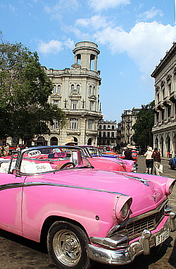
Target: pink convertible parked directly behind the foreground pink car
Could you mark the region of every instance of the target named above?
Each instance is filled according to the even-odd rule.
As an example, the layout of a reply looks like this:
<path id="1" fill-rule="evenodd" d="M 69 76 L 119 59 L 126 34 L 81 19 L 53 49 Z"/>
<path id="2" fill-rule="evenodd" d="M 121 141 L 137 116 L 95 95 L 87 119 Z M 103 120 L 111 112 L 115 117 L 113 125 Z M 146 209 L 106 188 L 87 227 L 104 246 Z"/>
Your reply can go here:
<path id="1" fill-rule="evenodd" d="M 89 159 L 89 162 L 91 162 L 95 168 L 103 170 L 114 169 L 115 171 L 137 172 L 137 162 L 132 160 L 122 160 L 120 157 L 115 155 L 115 157 L 111 157 L 111 155 L 103 155 L 101 154 L 99 148 L 93 145 L 81 145 L 79 147 L 85 150 L 84 155 L 86 157 L 92 157 L 93 160 Z M 123 170 L 122 167 L 125 167 L 125 169 Z"/>

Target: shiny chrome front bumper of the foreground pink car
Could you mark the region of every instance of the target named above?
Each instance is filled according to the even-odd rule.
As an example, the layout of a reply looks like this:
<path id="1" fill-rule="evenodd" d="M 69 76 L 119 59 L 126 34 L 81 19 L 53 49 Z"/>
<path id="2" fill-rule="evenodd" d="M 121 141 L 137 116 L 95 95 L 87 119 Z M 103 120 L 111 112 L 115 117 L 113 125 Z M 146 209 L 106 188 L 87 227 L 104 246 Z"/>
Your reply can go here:
<path id="1" fill-rule="evenodd" d="M 123 265 L 131 263 L 134 258 L 140 254 L 148 255 L 153 246 L 156 246 L 156 237 L 165 230 L 169 229 L 170 232 L 174 232 L 176 229 L 175 224 L 176 214 L 170 212 L 168 220 L 163 225 L 163 228 L 151 234 L 147 229 L 144 229 L 142 236 L 132 242 L 127 248 L 122 250 L 103 249 L 99 246 L 88 245 L 87 253 L 89 258 L 99 263 L 106 263 L 111 265 Z"/>

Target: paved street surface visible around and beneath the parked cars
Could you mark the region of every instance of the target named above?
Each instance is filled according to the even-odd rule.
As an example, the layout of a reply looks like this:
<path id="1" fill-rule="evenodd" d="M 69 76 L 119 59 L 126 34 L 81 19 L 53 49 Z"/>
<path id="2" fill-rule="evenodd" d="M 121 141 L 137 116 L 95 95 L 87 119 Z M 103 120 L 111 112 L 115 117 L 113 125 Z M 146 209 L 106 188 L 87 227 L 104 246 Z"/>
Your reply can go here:
<path id="1" fill-rule="evenodd" d="M 168 160 L 162 160 L 163 176 L 176 179 L 176 170 L 168 166 Z M 139 157 L 138 172 L 145 172 L 145 159 Z M 176 212 L 176 186 L 170 196 L 170 205 Z M 46 269 L 56 268 L 42 246 L 14 234 L 0 230 L 0 269 Z M 103 265 L 95 263 L 92 269 L 159 269 L 176 268 L 176 232 L 159 247 L 152 249 L 149 256 L 138 256 L 129 265 Z"/>

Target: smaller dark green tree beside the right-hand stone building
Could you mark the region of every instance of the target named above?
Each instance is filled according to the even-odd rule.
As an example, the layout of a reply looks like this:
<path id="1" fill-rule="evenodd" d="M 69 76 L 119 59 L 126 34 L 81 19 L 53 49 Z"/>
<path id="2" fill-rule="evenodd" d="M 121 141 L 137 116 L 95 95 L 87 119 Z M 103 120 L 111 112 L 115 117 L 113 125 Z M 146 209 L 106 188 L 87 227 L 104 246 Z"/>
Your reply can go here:
<path id="1" fill-rule="evenodd" d="M 153 145 L 151 129 L 154 124 L 154 104 L 154 101 L 146 105 L 142 104 L 142 109 L 137 114 L 137 121 L 132 126 L 135 131 L 133 141 L 141 148 L 146 148 L 147 145 Z"/>

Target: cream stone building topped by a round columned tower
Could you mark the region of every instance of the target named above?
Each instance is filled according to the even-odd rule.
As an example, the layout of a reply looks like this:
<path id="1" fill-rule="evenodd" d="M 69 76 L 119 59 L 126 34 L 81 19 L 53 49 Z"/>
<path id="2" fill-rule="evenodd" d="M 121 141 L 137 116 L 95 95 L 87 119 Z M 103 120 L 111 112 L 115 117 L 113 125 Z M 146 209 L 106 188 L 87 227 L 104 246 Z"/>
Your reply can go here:
<path id="1" fill-rule="evenodd" d="M 99 49 L 93 42 L 78 42 L 73 49 L 75 64 L 63 70 L 45 69 L 54 84 L 49 102 L 63 109 L 67 126 L 60 129 L 55 121 L 51 134 L 39 136 L 36 145 L 63 144 L 73 136 L 78 145 L 97 145 L 98 122 L 102 119 L 99 107 L 100 71 L 97 71 Z"/>

